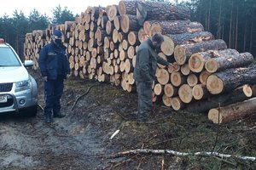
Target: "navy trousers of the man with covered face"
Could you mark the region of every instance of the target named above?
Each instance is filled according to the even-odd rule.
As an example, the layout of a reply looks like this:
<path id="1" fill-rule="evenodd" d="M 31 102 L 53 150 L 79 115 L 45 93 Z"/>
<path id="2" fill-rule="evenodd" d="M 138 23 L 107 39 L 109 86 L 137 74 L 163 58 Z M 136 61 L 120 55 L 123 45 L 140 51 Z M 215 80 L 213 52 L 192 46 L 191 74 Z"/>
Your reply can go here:
<path id="1" fill-rule="evenodd" d="M 51 116 L 52 111 L 54 114 L 58 114 L 60 112 L 63 88 L 64 84 L 62 78 L 44 82 L 45 116 Z"/>

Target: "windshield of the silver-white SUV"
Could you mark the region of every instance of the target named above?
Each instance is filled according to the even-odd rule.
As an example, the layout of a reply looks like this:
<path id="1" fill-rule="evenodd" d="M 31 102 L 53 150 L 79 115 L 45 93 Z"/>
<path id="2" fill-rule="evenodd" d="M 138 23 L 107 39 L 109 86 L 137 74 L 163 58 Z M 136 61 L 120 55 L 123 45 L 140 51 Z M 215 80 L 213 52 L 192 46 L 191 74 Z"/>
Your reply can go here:
<path id="1" fill-rule="evenodd" d="M 20 62 L 11 48 L 0 48 L 0 66 L 20 66 Z"/>

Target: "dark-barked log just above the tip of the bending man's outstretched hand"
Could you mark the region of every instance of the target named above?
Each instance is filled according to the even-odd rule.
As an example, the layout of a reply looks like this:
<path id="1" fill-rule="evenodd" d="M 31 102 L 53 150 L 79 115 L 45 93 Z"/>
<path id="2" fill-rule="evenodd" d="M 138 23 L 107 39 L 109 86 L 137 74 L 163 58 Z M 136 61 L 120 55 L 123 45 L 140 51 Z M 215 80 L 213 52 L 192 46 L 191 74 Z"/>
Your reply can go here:
<path id="1" fill-rule="evenodd" d="M 226 49 L 227 44 L 222 39 L 212 40 L 208 42 L 199 42 L 195 44 L 177 45 L 174 48 L 174 58 L 179 65 L 183 65 L 189 60 L 190 56 L 195 53 L 204 52 L 207 50 Z"/>

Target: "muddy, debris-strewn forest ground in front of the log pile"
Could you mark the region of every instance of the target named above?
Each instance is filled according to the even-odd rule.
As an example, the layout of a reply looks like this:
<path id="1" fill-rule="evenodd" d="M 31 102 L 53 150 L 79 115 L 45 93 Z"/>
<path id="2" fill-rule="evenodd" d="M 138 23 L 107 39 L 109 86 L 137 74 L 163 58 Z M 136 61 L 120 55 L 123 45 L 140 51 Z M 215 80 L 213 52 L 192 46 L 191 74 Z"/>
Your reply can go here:
<path id="1" fill-rule="evenodd" d="M 30 72 L 38 82 L 38 104 L 44 107 L 43 83 L 38 71 Z M 0 117 L 0 169 L 256 169 L 255 161 L 214 156 L 112 157 L 134 149 L 256 156 L 256 114 L 218 126 L 207 114 L 156 104 L 151 115 L 155 122 L 141 125 L 134 120 L 137 94 L 75 77 L 65 85 L 61 111 L 67 116 L 62 119 L 45 124 L 39 106 L 36 117 Z"/>

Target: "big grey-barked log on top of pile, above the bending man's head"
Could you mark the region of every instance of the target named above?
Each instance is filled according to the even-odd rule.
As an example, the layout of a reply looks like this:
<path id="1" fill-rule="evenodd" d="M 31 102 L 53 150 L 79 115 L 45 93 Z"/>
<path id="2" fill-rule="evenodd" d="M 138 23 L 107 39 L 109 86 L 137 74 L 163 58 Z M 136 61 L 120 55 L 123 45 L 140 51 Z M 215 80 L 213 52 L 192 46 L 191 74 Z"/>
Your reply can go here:
<path id="1" fill-rule="evenodd" d="M 140 26 L 145 20 L 189 20 L 189 8 L 173 6 L 167 2 L 137 2 Z"/>

